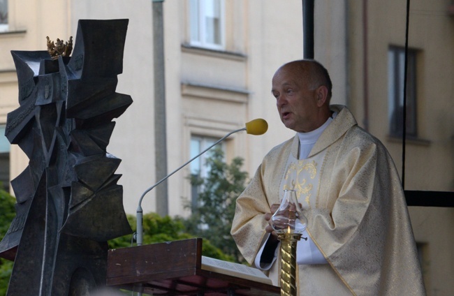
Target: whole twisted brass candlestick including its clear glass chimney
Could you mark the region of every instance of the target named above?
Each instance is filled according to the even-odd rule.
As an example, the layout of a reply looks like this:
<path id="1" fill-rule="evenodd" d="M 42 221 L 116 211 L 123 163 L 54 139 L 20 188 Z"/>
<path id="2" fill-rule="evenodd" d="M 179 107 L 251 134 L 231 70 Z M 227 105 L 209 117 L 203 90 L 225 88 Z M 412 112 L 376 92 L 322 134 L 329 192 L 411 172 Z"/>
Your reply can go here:
<path id="1" fill-rule="evenodd" d="M 281 295 L 297 295 L 296 244 L 307 227 L 294 190 L 285 190 L 279 209 L 271 217 L 281 241 Z"/>

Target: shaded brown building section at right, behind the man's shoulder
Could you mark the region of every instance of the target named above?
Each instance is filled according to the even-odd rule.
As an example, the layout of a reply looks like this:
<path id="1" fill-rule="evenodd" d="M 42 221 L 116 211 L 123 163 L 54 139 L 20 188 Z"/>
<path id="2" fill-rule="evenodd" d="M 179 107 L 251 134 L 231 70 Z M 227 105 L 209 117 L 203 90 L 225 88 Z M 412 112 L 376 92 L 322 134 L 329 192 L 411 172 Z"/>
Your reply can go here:
<path id="1" fill-rule="evenodd" d="M 404 188 L 454 190 L 451 1 L 411 1 L 402 148 L 406 1 L 348 5 L 349 107 L 393 156 Z M 402 165 L 405 158 L 404 166 Z M 404 174 L 403 174 L 404 172 Z M 453 208 L 409 207 L 428 295 L 451 295 Z"/>

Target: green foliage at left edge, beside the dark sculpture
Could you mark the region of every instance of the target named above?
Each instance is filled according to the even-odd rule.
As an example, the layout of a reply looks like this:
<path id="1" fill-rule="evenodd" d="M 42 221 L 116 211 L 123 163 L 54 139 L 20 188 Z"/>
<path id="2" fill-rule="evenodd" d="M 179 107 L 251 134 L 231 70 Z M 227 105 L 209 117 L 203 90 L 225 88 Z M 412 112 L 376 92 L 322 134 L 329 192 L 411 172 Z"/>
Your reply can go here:
<path id="1" fill-rule="evenodd" d="M 0 240 L 6 235 L 13 218 L 15 217 L 15 198 L 8 192 L 0 189 Z M 13 262 L 0 258 L 0 296 L 6 295 L 6 289 L 13 271 Z"/>

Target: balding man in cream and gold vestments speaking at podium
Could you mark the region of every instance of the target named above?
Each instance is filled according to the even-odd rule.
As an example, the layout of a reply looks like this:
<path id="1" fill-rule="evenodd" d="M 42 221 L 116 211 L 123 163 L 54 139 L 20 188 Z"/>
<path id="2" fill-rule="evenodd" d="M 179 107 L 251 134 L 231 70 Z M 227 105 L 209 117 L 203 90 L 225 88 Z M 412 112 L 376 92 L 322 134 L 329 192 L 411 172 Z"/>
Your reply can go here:
<path id="1" fill-rule="evenodd" d="M 231 234 L 244 258 L 279 286 L 270 219 L 292 189 L 308 219 L 297 246 L 300 295 L 425 295 L 393 160 L 345 106 L 330 105 L 328 71 L 291 61 L 272 77 L 271 92 L 296 135 L 263 158 L 237 198 Z"/>

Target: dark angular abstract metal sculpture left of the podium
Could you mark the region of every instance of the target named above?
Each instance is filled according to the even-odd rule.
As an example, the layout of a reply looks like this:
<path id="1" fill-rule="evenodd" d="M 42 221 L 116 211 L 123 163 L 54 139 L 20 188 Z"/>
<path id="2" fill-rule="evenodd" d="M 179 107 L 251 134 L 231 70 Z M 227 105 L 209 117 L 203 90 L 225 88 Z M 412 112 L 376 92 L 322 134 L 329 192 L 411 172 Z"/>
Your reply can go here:
<path id="1" fill-rule="evenodd" d="M 13 51 L 20 107 L 6 137 L 29 165 L 13 181 L 17 215 L 0 242 L 12 295 L 87 295 L 105 285 L 109 239 L 132 232 L 106 151 L 132 103 L 117 94 L 128 20 L 80 20 L 72 57 Z"/>

